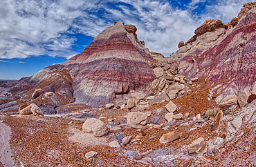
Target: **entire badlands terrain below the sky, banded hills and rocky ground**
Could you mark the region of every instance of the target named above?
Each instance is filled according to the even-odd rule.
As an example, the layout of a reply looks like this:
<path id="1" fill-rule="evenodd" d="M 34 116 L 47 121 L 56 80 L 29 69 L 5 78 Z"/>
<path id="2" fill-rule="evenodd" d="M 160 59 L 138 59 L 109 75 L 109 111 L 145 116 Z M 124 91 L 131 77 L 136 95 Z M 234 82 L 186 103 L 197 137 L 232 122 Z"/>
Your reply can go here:
<path id="1" fill-rule="evenodd" d="M 256 166 L 256 3 L 170 57 L 136 30 L 1 84 L 0 166 Z"/>

